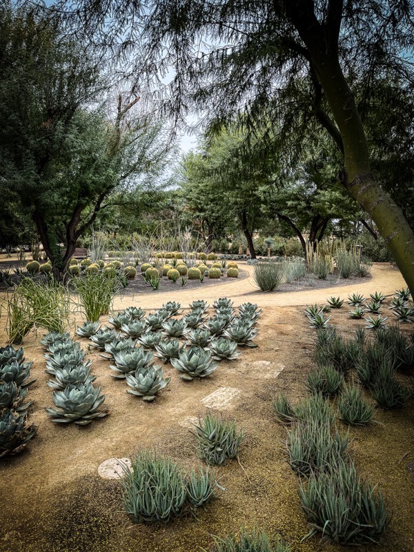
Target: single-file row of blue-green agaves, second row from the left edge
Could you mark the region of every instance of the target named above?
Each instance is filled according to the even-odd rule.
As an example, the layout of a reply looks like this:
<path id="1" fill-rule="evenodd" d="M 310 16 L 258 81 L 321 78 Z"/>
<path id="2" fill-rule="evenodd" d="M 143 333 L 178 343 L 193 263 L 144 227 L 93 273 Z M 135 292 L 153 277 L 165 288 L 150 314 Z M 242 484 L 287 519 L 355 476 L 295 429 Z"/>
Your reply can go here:
<path id="1" fill-rule="evenodd" d="M 57 408 L 46 408 L 52 422 L 69 424 L 74 422 L 86 426 L 108 414 L 99 411 L 105 401 L 101 388 L 93 382 L 96 376 L 90 375 L 90 360 L 85 359 L 85 351 L 70 339 L 68 333 L 50 332 L 41 339 L 46 353 L 46 373 L 53 376 L 48 386 L 54 389 L 53 402 Z"/>

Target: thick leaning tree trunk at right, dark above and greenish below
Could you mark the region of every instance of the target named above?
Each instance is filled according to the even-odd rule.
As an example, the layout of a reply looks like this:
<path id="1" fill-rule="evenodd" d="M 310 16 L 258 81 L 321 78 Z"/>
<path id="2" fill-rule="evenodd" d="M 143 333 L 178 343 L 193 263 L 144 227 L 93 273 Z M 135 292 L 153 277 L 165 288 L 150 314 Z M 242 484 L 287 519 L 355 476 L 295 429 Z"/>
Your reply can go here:
<path id="1" fill-rule="evenodd" d="M 324 25 L 315 17 L 312 0 L 285 3 L 290 20 L 306 44 L 310 63 L 324 90 L 342 138 L 344 170 L 341 180 L 375 222 L 414 297 L 414 233 L 393 199 L 371 175 L 366 135 L 355 99 L 339 64 L 338 37 L 341 0 L 331 0 Z M 331 129 L 335 134 L 335 128 Z M 336 137 L 337 139 L 337 137 Z"/>

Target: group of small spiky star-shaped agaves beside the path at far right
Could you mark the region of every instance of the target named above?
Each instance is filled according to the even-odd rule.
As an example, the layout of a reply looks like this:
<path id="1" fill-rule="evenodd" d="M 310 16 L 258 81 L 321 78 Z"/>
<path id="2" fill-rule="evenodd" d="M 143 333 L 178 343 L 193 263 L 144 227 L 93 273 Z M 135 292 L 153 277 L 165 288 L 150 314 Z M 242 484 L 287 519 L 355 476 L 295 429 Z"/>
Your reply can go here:
<path id="1" fill-rule="evenodd" d="M 397 290 L 395 295 L 391 297 L 389 310 L 393 312 L 398 322 L 414 322 L 414 308 L 409 304 L 411 297 L 408 289 Z M 348 304 L 353 307 L 349 315 L 353 319 L 362 319 L 366 313 L 369 313 L 364 319 L 368 330 L 378 330 L 386 326 L 387 317 L 380 315 L 380 309 L 384 306 L 386 297 L 380 292 L 370 294 L 371 301 L 368 301 L 363 295 L 353 293 L 348 296 Z M 340 297 L 329 297 L 327 304 L 324 306 L 308 305 L 305 309 L 305 314 L 311 322 L 312 328 L 328 328 L 331 317 L 325 313 L 331 308 L 342 308 L 344 299 Z M 377 315 L 373 317 L 373 315 Z"/>

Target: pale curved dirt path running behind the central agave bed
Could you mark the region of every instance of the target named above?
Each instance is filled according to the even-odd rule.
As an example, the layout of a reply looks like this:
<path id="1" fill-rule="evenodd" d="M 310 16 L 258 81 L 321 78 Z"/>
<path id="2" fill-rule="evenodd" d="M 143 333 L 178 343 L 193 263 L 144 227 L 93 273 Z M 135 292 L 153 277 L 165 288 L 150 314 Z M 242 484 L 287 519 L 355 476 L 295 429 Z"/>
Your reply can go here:
<path id="1" fill-rule="evenodd" d="M 340 295 L 347 297 L 350 293 L 363 293 L 367 295 L 375 291 L 381 291 L 384 295 L 391 295 L 395 290 L 406 287 L 404 278 L 399 270 L 392 266 L 373 266 L 371 278 L 366 282 L 355 284 L 341 284 L 331 288 L 309 288 L 301 291 L 263 293 L 257 289 L 253 280 L 253 266 L 242 264 L 243 270 L 247 270 L 247 278 L 229 279 L 228 283 L 219 286 L 192 288 L 190 290 L 182 289 L 177 286 L 176 290 L 168 293 L 139 293 L 137 295 L 126 295 L 115 299 L 114 308 L 116 310 L 125 308 L 129 304 L 139 304 L 143 308 L 159 308 L 169 300 L 180 302 L 186 306 L 195 299 L 204 299 L 208 303 L 213 302 L 218 297 L 232 297 L 236 303 L 252 302 L 261 307 L 266 306 L 299 306 L 311 303 L 325 302 L 326 297 L 331 295 Z M 344 280 L 346 282 L 346 280 Z"/>

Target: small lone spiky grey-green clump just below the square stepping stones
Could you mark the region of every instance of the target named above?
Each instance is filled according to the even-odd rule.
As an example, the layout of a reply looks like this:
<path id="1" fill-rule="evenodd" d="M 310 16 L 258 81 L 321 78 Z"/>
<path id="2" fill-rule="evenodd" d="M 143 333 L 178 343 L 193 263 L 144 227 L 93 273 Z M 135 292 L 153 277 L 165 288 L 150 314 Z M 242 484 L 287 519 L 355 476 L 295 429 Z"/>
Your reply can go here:
<path id="1" fill-rule="evenodd" d="M 230 417 L 208 412 L 195 425 L 199 457 L 207 464 L 221 466 L 237 457 L 244 430 Z"/>

